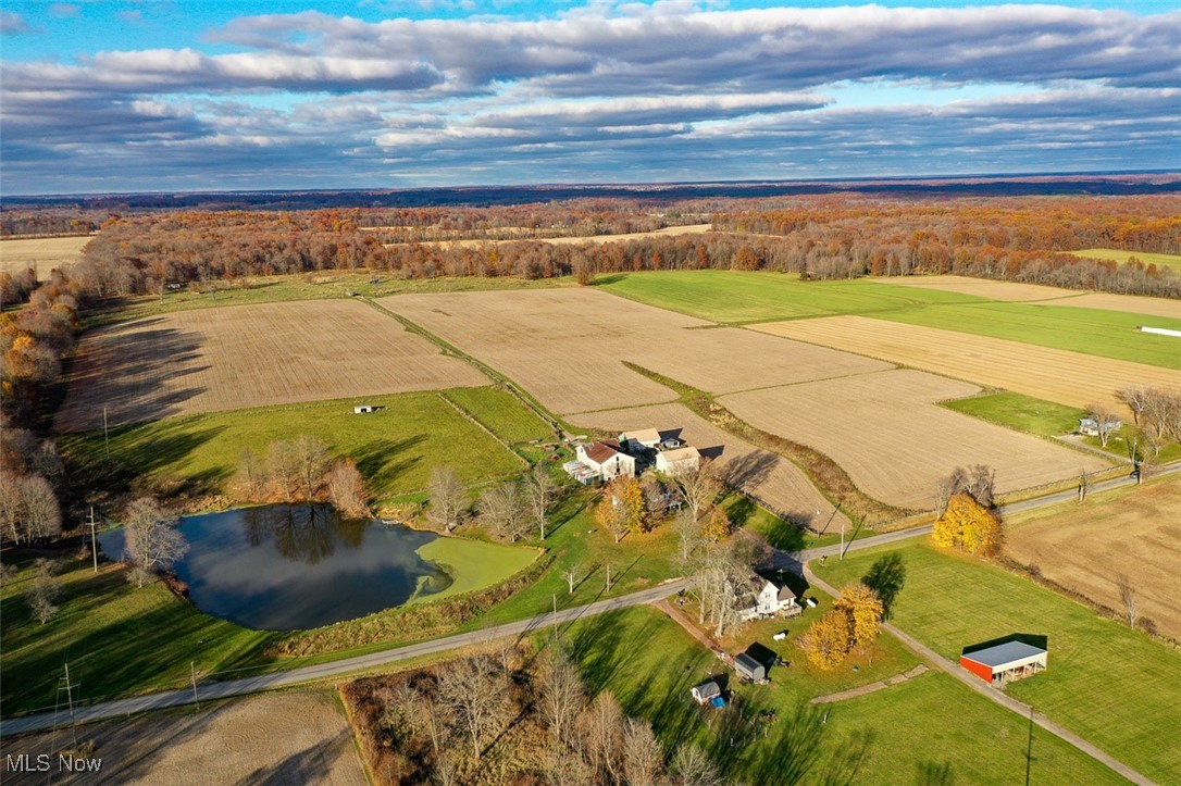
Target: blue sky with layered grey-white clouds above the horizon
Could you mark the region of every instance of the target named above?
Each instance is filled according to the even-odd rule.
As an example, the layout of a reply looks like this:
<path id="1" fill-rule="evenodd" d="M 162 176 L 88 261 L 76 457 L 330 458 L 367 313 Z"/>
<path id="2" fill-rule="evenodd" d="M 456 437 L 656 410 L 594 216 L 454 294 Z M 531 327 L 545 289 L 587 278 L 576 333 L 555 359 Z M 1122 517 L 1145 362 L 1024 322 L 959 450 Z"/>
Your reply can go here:
<path id="1" fill-rule="evenodd" d="M 1181 169 L 1181 6 L 0 6 L 0 194 Z"/>

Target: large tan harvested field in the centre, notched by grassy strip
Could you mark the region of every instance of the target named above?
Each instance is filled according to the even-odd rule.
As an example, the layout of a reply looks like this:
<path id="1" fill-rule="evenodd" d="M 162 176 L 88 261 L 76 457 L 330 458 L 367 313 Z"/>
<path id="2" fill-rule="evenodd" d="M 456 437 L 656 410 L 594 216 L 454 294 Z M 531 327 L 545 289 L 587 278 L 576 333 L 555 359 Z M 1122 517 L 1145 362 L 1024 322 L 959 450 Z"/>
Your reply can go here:
<path id="1" fill-rule="evenodd" d="M 589 289 L 402 295 L 379 302 L 566 414 L 677 398 L 622 361 L 713 393 L 889 367 L 803 342 L 718 328 Z"/>

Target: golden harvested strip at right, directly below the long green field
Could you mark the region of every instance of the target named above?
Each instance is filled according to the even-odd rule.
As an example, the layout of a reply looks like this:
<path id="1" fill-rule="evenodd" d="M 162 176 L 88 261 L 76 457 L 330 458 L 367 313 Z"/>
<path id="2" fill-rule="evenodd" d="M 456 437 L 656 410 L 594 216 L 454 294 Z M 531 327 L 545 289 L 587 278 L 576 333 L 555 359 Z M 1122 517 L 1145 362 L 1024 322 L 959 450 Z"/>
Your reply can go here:
<path id="1" fill-rule="evenodd" d="M 1115 391 L 1130 386 L 1181 387 L 1181 372 L 1170 368 L 864 316 L 771 322 L 751 329 L 1075 407 L 1108 404 L 1128 417 L 1130 413 L 1115 401 Z M 1134 338 L 1129 335 L 1129 340 Z M 1181 340 L 1177 347 L 1181 352 Z"/>

